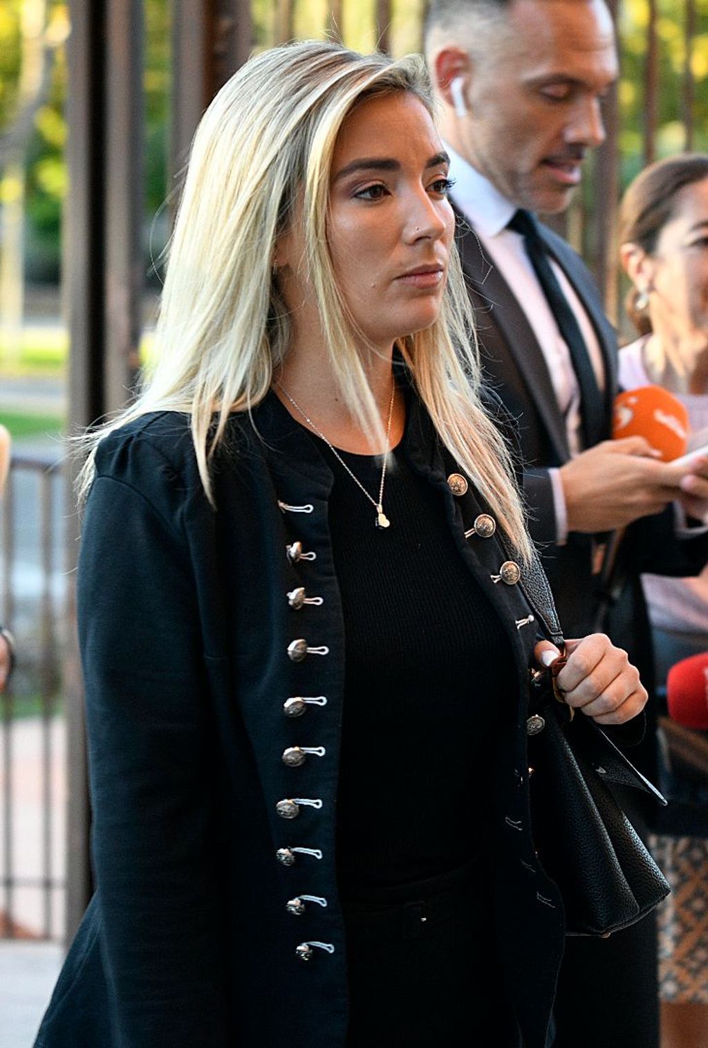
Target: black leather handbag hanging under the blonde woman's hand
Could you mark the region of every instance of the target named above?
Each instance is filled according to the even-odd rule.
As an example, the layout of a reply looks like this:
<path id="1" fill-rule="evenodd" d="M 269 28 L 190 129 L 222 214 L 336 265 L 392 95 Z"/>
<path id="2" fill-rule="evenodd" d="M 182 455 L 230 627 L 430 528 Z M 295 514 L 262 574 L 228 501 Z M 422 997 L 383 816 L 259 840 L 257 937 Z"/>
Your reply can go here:
<path id="1" fill-rule="evenodd" d="M 554 681 L 563 662 L 534 674 L 531 684 L 531 828 L 540 864 L 562 896 L 566 934 L 607 936 L 669 893 L 612 787 L 666 801 L 601 727 L 562 702 Z"/>

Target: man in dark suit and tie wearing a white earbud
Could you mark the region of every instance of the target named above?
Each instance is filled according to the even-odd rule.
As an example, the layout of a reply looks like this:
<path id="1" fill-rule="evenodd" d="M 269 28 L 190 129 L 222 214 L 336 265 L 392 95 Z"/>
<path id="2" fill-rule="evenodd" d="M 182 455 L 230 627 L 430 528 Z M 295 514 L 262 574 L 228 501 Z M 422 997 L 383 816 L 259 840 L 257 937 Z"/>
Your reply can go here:
<path id="1" fill-rule="evenodd" d="M 703 512 L 708 460 L 682 474 L 641 438 L 607 439 L 615 333 L 580 259 L 534 215 L 568 205 L 604 139 L 602 97 L 618 71 L 611 14 L 603 0 L 432 0 L 425 49 L 483 364 L 519 421 L 531 531 L 561 623 L 568 636 L 595 628 L 603 538 L 629 527 L 606 628 L 650 676 L 639 574 L 694 573 L 705 561 L 705 539 L 681 540 L 669 503 Z M 569 940 L 558 1048 L 656 1048 L 656 962 L 652 918 L 610 940 Z"/>

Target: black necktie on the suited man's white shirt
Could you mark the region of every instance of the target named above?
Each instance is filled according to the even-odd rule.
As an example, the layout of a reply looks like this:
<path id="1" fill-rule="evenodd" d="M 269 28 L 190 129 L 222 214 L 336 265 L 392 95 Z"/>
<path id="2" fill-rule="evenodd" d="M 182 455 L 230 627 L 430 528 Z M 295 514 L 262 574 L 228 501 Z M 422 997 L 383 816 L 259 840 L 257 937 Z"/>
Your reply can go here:
<path id="1" fill-rule="evenodd" d="M 583 443 L 585 447 L 592 447 L 593 444 L 602 440 L 604 435 L 604 398 L 598 389 L 590 353 L 575 313 L 549 262 L 546 245 L 538 232 L 538 223 L 534 216 L 528 211 L 519 210 L 511 217 L 507 228 L 514 230 L 524 237 L 526 254 L 529 256 L 538 283 L 551 307 L 561 337 L 570 351 L 573 370 L 580 388 Z"/>

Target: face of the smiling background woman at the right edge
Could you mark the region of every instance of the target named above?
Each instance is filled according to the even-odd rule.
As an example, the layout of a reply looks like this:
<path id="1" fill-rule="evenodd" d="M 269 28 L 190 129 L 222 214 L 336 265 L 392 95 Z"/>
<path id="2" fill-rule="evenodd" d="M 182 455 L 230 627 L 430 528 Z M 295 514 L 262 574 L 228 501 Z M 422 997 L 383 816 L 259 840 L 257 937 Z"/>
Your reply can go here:
<path id="1" fill-rule="evenodd" d="M 655 330 L 708 332 L 708 178 L 677 195 L 650 261 Z"/>

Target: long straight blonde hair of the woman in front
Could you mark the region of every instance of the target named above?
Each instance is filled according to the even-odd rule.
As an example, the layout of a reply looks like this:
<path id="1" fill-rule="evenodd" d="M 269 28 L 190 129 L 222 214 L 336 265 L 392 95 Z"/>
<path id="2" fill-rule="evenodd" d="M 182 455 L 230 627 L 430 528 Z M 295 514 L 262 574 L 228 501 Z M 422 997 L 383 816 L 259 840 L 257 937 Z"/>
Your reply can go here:
<path id="1" fill-rule="evenodd" d="M 393 62 L 306 41 L 250 59 L 222 87 L 197 129 L 169 252 L 156 328 L 157 361 L 138 399 L 88 438 L 85 494 L 96 443 L 153 411 L 191 416 L 209 500 L 209 460 L 231 412 L 270 389 L 290 345 L 273 246 L 303 201 L 309 279 L 335 380 L 368 432 L 380 417 L 327 239 L 330 167 L 348 113 L 364 97 L 413 92 L 432 110 L 423 60 Z M 523 556 L 530 555 L 509 453 L 483 409 L 471 307 L 452 252 L 438 320 L 399 348 L 440 439 L 477 484 Z M 215 413 L 218 415 L 214 427 Z"/>

